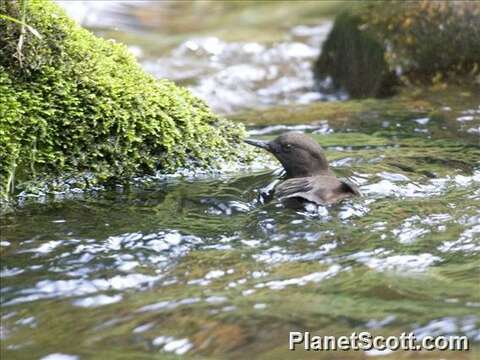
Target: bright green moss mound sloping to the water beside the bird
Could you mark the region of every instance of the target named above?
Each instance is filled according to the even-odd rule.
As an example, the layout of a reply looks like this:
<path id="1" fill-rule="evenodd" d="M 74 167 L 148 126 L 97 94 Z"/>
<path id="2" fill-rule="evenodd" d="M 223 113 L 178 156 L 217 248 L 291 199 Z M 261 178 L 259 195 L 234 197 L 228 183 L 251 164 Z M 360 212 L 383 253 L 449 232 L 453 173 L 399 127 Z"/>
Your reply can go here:
<path id="1" fill-rule="evenodd" d="M 20 3 L 0 13 L 22 18 Z M 51 1 L 29 1 L 26 23 L 0 19 L 2 197 L 29 182 L 89 174 L 124 181 L 157 170 L 236 159 L 241 125 L 188 90 L 156 80 L 121 44 L 78 27 Z"/>

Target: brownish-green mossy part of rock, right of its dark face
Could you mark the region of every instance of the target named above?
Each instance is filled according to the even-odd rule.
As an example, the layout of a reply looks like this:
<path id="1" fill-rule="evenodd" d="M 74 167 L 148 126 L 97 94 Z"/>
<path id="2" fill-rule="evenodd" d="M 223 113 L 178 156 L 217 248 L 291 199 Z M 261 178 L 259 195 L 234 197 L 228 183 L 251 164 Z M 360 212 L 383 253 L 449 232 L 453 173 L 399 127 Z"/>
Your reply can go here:
<path id="1" fill-rule="evenodd" d="M 386 61 L 401 69 L 404 80 L 439 82 L 480 70 L 476 1 L 373 2 L 360 16 L 364 30 L 386 45 Z"/>

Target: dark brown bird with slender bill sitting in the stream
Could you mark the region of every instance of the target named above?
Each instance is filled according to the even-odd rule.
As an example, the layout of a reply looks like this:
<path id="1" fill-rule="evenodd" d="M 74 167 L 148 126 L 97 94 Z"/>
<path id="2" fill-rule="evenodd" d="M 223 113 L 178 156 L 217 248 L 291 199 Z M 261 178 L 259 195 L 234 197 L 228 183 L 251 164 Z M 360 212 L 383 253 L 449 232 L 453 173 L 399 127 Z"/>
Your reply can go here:
<path id="1" fill-rule="evenodd" d="M 279 200 L 300 199 L 318 205 L 360 195 L 355 185 L 337 179 L 321 146 L 303 133 L 287 133 L 272 141 L 245 140 L 272 153 L 283 165 L 287 179 L 275 188 Z"/>

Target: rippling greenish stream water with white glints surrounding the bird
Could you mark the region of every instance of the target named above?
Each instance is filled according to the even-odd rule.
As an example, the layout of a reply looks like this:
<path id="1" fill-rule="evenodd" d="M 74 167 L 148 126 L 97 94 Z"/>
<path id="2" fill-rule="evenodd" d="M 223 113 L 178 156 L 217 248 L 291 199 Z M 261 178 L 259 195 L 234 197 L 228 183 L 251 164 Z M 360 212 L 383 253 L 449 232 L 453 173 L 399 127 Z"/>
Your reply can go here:
<path id="1" fill-rule="evenodd" d="M 322 26 L 301 29 L 318 36 Z M 342 118 L 266 121 L 263 108 L 282 98 L 325 96 L 299 70 L 307 60 L 294 54 L 313 40 L 292 39 L 298 29 L 268 45 L 189 39 L 141 59 L 225 113 L 257 109 L 244 115 L 252 137 L 310 133 L 363 196 L 285 208 L 268 199 L 278 164 L 259 156 L 248 171 L 27 199 L 2 219 L 2 359 L 478 356 L 480 94 L 436 95 L 428 111 L 393 100 Z M 282 49 L 290 55 L 270 65 Z M 198 72 L 179 79 L 178 61 Z M 265 79 L 244 69 L 251 81 L 237 81 L 239 66 L 278 73 Z M 221 68 L 229 71 L 219 75 Z M 281 74 L 300 85 L 282 92 Z M 215 87 L 228 94 L 223 104 L 202 90 Z M 295 106 L 292 117 L 311 118 L 312 109 Z M 289 331 L 466 335 L 472 349 L 292 353 Z"/>

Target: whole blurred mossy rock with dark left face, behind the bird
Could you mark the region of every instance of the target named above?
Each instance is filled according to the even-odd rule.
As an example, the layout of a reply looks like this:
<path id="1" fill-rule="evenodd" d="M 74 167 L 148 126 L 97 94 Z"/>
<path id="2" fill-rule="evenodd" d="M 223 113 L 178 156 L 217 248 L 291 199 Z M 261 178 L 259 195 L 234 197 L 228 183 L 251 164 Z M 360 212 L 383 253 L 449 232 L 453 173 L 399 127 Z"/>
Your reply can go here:
<path id="1" fill-rule="evenodd" d="M 477 1 L 369 1 L 340 14 L 314 66 L 321 90 L 353 98 L 399 84 L 471 83 L 480 73 Z M 331 81 L 326 82 L 325 79 Z"/>

